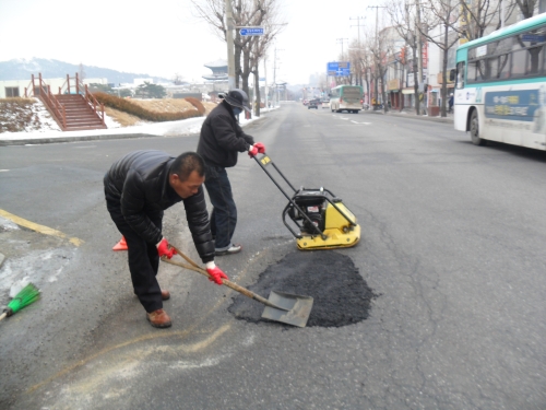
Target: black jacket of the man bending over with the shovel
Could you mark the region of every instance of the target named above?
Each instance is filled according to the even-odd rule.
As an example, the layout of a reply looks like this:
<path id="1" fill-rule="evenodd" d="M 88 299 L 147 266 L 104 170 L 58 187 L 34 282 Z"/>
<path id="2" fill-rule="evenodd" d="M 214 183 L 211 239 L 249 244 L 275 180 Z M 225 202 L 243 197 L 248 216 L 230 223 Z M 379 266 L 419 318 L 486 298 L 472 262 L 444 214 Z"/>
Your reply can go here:
<path id="1" fill-rule="evenodd" d="M 127 223 L 149 244 L 163 235 L 149 214 L 161 212 L 183 201 L 186 219 L 193 243 L 203 262 L 214 260 L 209 213 L 203 187 L 182 199 L 170 187 L 168 177 L 174 157 L 162 151 L 136 151 L 112 164 L 104 177 L 106 199 L 119 203 Z"/>

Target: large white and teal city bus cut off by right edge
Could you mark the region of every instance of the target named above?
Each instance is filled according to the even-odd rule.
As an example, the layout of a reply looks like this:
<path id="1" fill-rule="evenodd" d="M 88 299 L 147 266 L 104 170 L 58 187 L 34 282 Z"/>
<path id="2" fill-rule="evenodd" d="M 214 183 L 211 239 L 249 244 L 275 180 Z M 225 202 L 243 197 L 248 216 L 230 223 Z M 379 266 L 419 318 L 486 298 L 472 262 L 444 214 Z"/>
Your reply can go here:
<path id="1" fill-rule="evenodd" d="M 546 14 L 456 50 L 454 127 L 472 142 L 546 150 Z"/>

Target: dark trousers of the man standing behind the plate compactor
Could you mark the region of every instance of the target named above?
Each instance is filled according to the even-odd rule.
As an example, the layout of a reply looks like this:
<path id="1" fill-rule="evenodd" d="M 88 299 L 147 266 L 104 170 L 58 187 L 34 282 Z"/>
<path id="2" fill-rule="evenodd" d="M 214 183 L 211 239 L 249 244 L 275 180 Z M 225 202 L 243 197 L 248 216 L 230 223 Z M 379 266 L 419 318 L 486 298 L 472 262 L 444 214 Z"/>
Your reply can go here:
<path id="1" fill-rule="evenodd" d="M 226 168 L 206 164 L 204 185 L 213 206 L 211 232 L 216 236 L 215 248 L 218 251 L 226 250 L 232 246 L 237 225 L 237 208 Z"/>

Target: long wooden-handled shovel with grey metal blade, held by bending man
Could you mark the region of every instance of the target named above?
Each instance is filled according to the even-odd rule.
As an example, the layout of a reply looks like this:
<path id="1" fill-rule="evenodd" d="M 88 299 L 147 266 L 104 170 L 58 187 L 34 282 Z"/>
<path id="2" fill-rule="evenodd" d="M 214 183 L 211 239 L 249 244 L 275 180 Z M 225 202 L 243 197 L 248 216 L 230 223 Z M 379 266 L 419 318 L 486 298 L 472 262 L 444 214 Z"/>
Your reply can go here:
<path id="1" fill-rule="evenodd" d="M 190 265 L 177 262 L 175 260 L 162 257 L 162 260 L 164 262 L 193 270 L 194 272 L 201 273 L 206 278 L 211 277 L 206 270 L 201 268 L 189 257 L 183 255 L 176 247 L 171 247 Z M 283 324 L 288 324 L 297 327 L 305 327 L 307 320 L 309 319 L 309 315 L 311 314 L 312 297 L 310 296 L 300 296 L 290 293 L 271 291 L 270 298 L 266 300 L 265 297 L 262 297 L 246 288 L 239 286 L 237 283 L 228 281 L 227 279 L 222 279 L 222 283 L 228 288 L 232 288 L 234 291 L 244 294 L 247 297 L 253 298 L 254 301 L 264 304 L 265 308 L 262 313 L 262 317 L 265 319 L 282 321 Z"/>

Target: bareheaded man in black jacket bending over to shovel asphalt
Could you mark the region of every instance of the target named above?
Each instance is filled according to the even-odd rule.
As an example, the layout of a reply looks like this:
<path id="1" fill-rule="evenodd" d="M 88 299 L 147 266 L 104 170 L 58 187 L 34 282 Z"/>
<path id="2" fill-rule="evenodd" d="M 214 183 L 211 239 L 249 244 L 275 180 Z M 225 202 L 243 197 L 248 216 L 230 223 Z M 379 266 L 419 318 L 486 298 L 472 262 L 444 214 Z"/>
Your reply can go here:
<path id="1" fill-rule="evenodd" d="M 161 151 L 136 151 L 115 162 L 104 177 L 106 206 L 128 245 L 134 293 L 154 327 L 169 327 L 159 288 L 159 257 L 175 250 L 162 235 L 163 211 L 183 201 L 186 219 L 199 256 L 212 280 L 222 284 L 226 274 L 214 263 L 214 243 L 202 184 L 204 163 L 194 152 L 173 157 Z"/>

